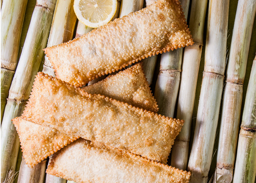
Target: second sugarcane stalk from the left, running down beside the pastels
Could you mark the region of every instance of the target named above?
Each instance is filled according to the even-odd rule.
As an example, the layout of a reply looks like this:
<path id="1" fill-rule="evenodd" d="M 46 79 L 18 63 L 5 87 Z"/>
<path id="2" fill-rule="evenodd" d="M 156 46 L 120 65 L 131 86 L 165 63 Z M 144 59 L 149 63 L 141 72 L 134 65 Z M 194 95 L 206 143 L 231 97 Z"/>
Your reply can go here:
<path id="1" fill-rule="evenodd" d="M 34 76 L 43 58 L 55 3 L 56 0 L 37 1 L 9 90 L 1 126 L 1 182 L 5 180 L 7 171 L 16 167 L 19 137 L 11 120 L 21 115 L 30 95 Z"/>

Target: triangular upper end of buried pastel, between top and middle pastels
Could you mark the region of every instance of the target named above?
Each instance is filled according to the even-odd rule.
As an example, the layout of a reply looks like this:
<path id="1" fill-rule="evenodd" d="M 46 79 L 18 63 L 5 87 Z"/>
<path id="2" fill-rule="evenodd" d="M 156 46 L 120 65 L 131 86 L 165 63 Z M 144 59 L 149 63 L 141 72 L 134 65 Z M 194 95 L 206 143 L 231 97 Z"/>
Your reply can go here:
<path id="1" fill-rule="evenodd" d="M 91 94 L 105 95 L 148 111 L 158 111 L 156 100 L 152 96 L 143 72 L 142 63 L 110 75 L 102 81 L 86 86 L 83 90 Z"/>

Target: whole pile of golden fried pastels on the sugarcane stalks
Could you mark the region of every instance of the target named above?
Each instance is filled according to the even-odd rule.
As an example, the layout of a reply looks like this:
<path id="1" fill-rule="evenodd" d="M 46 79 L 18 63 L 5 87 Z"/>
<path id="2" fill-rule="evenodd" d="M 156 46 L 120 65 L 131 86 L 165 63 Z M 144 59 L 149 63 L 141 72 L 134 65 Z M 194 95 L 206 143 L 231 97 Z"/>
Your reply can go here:
<path id="1" fill-rule="evenodd" d="M 125 23 L 135 33 L 123 30 Z M 154 23 L 156 30 L 147 28 Z M 133 34 L 133 39 L 116 42 L 113 36 L 119 34 Z M 140 45 L 140 39 L 148 43 Z M 113 49 L 116 43 L 118 49 Z M 188 182 L 190 172 L 166 165 L 184 121 L 156 114 L 141 63 L 91 86 L 77 87 L 147 56 L 192 43 L 179 2 L 159 0 L 78 39 L 47 48 L 57 78 L 39 72 L 24 113 L 13 119 L 26 164 L 33 167 L 51 155 L 47 173 L 79 183 Z"/>

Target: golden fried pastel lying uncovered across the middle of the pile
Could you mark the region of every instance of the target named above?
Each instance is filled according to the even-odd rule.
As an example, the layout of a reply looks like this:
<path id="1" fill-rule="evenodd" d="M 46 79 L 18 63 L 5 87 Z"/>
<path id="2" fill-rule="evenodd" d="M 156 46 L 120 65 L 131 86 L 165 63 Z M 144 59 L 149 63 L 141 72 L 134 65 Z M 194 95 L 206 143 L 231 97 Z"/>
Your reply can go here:
<path id="1" fill-rule="evenodd" d="M 39 72 L 21 118 L 166 163 L 184 121 L 88 94 Z"/>

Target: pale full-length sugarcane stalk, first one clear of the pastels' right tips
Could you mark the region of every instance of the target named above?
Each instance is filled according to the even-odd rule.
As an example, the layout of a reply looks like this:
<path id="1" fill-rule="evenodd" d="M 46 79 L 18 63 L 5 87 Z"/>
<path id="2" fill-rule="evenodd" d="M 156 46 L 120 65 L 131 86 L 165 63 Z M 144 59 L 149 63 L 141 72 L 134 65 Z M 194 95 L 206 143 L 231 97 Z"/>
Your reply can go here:
<path id="1" fill-rule="evenodd" d="M 192 150 L 191 183 L 206 183 L 211 167 L 226 65 L 229 0 L 210 0 L 204 74 Z"/>

